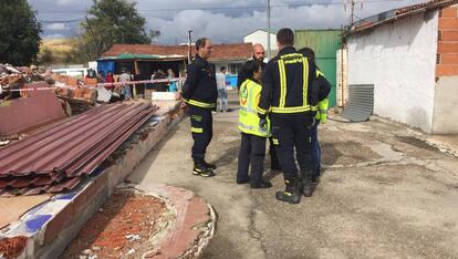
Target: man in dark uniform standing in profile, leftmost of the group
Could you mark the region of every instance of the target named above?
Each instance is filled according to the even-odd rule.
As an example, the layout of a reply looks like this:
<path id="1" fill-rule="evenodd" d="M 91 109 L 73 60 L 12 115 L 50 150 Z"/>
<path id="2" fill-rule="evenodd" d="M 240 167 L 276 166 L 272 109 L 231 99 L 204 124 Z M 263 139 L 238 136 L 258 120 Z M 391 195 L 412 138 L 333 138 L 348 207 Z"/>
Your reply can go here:
<path id="1" fill-rule="evenodd" d="M 192 174 L 211 177 L 215 176 L 216 166 L 205 160 L 205 154 L 214 135 L 211 111 L 216 110 L 218 92 L 215 65 L 208 62 L 212 51 L 210 39 L 197 40 L 196 50 L 196 58 L 188 66 L 181 96 L 189 106 L 191 121 Z"/>

